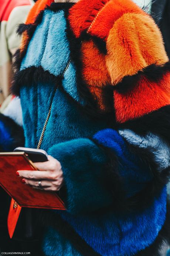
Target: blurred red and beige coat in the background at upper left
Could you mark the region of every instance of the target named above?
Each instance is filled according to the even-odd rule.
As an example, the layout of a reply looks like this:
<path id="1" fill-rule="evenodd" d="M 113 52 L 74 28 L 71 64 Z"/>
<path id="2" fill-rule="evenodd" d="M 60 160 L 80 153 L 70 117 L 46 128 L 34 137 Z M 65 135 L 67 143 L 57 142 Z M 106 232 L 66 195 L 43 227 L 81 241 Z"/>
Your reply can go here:
<path id="1" fill-rule="evenodd" d="M 0 0 L 0 105 L 10 93 L 12 55 L 20 46 L 16 30 L 26 21 L 33 4 L 33 0 Z"/>

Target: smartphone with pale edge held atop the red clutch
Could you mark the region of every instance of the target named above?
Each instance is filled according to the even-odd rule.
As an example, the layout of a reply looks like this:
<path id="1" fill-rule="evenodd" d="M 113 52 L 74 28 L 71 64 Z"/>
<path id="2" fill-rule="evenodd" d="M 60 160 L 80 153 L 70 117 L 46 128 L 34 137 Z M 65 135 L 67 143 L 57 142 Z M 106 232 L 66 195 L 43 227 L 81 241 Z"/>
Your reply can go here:
<path id="1" fill-rule="evenodd" d="M 14 149 L 14 152 L 25 152 L 33 163 L 48 161 L 48 154 L 45 150 L 18 147 Z"/>

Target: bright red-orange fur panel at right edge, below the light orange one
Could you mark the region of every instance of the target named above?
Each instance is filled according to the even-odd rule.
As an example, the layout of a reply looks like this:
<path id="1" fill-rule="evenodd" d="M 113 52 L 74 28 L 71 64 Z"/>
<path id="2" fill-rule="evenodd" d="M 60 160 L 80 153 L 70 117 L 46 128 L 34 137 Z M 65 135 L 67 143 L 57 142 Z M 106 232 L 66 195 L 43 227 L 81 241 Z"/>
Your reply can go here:
<path id="1" fill-rule="evenodd" d="M 160 84 L 142 78 L 128 93 L 114 91 L 114 104 L 117 122 L 139 118 L 170 104 L 170 86 L 167 94 Z"/>

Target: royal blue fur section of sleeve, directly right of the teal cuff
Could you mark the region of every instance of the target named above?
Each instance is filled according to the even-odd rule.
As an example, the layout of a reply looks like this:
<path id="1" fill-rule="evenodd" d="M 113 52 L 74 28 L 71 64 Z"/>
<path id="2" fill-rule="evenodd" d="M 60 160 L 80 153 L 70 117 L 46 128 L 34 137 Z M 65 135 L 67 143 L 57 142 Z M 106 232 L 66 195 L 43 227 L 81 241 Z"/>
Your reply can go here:
<path id="1" fill-rule="evenodd" d="M 143 190 L 147 183 L 153 179 L 146 159 L 142 157 L 143 152 L 137 152 L 126 143 L 123 137 L 113 129 L 104 129 L 93 136 L 93 140 L 102 145 L 108 152 L 110 158 L 116 157 L 114 165 L 110 161 L 109 171 L 115 172 L 120 178 L 125 197 L 133 197 Z"/>

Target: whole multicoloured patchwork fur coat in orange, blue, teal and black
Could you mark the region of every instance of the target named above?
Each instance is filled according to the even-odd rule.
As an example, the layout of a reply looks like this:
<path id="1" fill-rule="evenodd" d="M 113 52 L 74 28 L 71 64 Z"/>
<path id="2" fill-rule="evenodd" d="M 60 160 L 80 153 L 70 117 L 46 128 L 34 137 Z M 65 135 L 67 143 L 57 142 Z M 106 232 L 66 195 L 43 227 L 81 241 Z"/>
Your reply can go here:
<path id="1" fill-rule="evenodd" d="M 132 0 L 52 2 L 38 0 L 19 27 L 13 83 L 26 147 L 36 148 L 54 96 L 41 148 L 61 162 L 67 211 L 42 211 L 44 254 L 159 256 L 170 237 L 160 31 Z M 21 145 L 21 128 L 0 120 L 1 150 Z"/>

